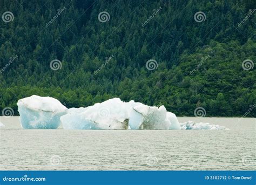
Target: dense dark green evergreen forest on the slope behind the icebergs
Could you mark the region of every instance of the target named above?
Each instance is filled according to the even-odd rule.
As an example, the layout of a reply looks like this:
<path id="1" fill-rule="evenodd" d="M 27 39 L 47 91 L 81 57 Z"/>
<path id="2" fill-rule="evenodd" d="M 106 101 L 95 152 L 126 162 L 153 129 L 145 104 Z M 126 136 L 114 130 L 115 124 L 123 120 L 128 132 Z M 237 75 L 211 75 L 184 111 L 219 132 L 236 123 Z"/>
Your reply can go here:
<path id="1" fill-rule="evenodd" d="M 256 104 L 255 1 L 0 0 L 0 7 L 1 112 L 18 115 L 18 99 L 32 94 L 68 108 L 119 97 L 179 116 L 204 107 L 208 117 L 242 117 Z M 253 108 L 246 116 L 255 117 Z"/>

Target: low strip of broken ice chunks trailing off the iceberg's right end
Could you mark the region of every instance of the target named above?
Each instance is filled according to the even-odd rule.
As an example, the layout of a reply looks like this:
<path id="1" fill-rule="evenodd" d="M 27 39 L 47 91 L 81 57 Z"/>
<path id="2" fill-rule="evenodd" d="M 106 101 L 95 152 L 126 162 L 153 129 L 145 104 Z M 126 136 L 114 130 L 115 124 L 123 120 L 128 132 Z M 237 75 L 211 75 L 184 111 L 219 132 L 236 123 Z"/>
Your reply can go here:
<path id="1" fill-rule="evenodd" d="M 181 129 L 186 129 L 186 130 L 225 130 L 228 129 L 224 126 L 220 126 L 220 125 L 211 125 L 207 122 L 193 122 L 193 121 L 188 121 L 188 122 L 184 122 L 180 124 Z"/>

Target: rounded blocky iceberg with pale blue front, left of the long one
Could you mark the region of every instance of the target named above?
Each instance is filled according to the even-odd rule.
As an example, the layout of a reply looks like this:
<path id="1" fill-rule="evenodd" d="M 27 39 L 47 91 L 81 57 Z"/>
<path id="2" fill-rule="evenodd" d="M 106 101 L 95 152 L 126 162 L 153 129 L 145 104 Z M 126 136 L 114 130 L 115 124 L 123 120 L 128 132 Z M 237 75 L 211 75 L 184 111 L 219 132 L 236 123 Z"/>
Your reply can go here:
<path id="1" fill-rule="evenodd" d="M 68 110 L 59 100 L 38 95 L 18 100 L 17 105 L 19 121 L 26 129 L 57 128 L 60 125 L 60 117 Z"/>

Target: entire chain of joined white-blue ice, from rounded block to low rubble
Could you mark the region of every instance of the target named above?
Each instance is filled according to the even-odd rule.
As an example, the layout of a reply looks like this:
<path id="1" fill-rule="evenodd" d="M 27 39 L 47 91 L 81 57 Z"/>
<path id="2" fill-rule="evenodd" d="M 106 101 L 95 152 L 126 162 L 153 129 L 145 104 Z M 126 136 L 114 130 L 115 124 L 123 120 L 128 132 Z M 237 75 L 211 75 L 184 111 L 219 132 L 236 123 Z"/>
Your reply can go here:
<path id="1" fill-rule="evenodd" d="M 179 123 L 165 106 L 147 106 L 133 100 L 112 98 L 89 107 L 66 108 L 57 99 L 32 95 L 18 100 L 23 128 L 64 129 L 226 129 L 224 126 L 188 121 Z M 0 122 L 1 127 L 1 122 Z"/>

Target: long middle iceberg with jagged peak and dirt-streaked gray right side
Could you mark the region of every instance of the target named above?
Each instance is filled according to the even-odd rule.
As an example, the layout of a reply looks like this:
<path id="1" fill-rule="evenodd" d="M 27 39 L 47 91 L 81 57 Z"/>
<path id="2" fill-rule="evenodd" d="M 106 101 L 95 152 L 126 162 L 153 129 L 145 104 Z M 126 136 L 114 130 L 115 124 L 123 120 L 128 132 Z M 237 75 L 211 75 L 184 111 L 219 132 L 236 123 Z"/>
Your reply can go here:
<path id="1" fill-rule="evenodd" d="M 164 106 L 106 100 L 86 108 L 70 108 L 60 117 L 64 129 L 180 129 L 175 114 Z"/>

